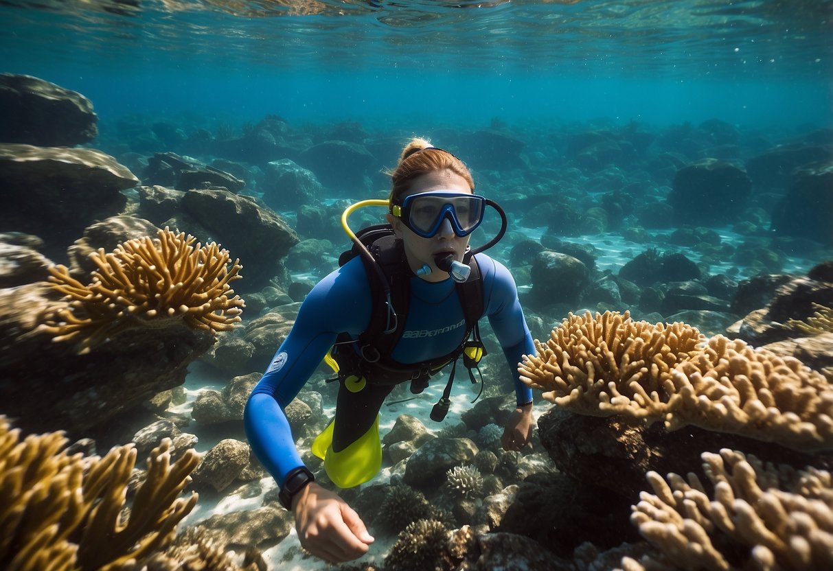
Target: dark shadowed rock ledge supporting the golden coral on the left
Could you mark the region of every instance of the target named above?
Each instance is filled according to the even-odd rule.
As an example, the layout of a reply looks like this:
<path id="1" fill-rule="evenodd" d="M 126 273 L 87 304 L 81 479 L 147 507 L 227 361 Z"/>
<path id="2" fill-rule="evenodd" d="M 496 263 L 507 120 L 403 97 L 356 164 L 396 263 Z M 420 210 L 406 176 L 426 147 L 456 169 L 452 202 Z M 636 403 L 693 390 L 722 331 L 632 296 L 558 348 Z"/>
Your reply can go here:
<path id="1" fill-rule="evenodd" d="M 54 342 L 36 329 L 44 312 L 61 305 L 42 282 L 0 290 L 2 412 L 27 432 L 88 436 L 112 425 L 153 395 L 182 385 L 187 366 L 213 343 L 212 334 L 172 321 L 113 333 L 78 355 L 72 341 Z"/>

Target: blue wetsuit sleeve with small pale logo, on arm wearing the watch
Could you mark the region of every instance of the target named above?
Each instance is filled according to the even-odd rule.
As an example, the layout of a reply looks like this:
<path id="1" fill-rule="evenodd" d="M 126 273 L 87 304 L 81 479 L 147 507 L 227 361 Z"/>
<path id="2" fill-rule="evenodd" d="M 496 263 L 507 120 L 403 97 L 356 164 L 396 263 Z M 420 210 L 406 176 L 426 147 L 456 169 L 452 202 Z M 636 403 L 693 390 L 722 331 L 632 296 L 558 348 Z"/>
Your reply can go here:
<path id="1" fill-rule="evenodd" d="M 263 466 L 283 484 L 302 466 L 284 408 L 292 402 L 342 331 L 367 328 L 371 295 L 362 261 L 354 258 L 312 288 L 287 339 L 257 383 L 243 415 L 249 444 Z"/>

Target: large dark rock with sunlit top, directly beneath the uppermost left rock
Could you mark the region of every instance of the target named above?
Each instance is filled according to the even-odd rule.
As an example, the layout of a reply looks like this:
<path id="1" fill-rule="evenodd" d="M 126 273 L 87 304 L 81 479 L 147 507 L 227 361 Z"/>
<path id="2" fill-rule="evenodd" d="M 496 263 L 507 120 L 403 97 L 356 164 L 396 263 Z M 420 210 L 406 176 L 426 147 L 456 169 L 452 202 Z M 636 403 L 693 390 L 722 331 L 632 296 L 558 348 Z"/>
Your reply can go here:
<path id="1" fill-rule="evenodd" d="M 66 247 L 93 221 L 122 211 L 120 191 L 138 179 L 109 155 L 92 149 L 0 145 L 0 226 Z"/>

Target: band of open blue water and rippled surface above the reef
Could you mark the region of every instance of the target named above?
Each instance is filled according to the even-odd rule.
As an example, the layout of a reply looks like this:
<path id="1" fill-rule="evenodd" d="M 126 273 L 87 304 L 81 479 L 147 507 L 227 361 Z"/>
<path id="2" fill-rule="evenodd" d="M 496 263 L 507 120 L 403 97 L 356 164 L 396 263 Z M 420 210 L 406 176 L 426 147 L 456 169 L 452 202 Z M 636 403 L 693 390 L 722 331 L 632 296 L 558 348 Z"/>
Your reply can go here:
<path id="1" fill-rule="evenodd" d="M 3 71 L 106 122 L 833 124 L 830 0 L 2 0 Z"/>

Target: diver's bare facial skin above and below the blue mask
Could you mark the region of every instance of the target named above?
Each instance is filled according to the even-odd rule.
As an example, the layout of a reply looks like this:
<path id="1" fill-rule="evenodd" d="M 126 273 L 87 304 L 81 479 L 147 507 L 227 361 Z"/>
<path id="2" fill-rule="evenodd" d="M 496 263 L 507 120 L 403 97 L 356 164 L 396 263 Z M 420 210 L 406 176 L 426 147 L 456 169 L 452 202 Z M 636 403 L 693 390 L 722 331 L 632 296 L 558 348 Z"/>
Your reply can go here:
<path id="1" fill-rule="evenodd" d="M 471 188 L 469 188 L 466 179 L 456 174 L 456 172 L 435 171 L 416 177 L 407 196 L 429 191 L 451 191 L 460 192 L 461 194 L 471 194 Z M 431 267 L 430 274 L 420 276 L 423 280 L 443 281 L 449 277 L 448 272 L 440 270 L 434 264 L 434 257 L 438 254 L 451 253 L 454 255 L 456 261 L 462 261 L 463 254 L 466 253 L 470 236 L 463 238 L 457 236 L 453 228 L 451 228 L 451 221 L 447 218 L 443 219 L 439 230 L 430 238 L 418 236 L 396 216 L 388 214 L 387 221 L 393 226 L 394 233 L 402 238 L 405 246 L 405 256 L 407 257 L 408 266 L 411 266 L 411 270 L 416 272 L 416 270 L 426 264 Z"/>

